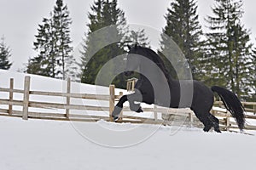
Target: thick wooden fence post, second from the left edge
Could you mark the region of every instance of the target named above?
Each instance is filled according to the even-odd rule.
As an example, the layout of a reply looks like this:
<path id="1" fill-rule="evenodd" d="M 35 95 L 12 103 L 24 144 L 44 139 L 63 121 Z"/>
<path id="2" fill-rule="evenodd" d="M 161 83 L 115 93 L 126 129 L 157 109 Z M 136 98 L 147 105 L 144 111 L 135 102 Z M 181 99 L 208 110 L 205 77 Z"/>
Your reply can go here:
<path id="1" fill-rule="evenodd" d="M 23 94 L 23 115 L 22 115 L 23 120 L 28 119 L 29 89 L 30 89 L 30 77 L 25 77 L 24 94 Z"/>

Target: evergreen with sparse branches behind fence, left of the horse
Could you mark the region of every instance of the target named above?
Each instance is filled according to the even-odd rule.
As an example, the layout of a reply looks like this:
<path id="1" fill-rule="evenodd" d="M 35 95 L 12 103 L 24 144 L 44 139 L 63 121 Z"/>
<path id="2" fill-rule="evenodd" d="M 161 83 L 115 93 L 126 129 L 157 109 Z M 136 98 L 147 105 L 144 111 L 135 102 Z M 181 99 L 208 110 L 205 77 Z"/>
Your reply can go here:
<path id="1" fill-rule="evenodd" d="M 29 59 L 26 72 L 46 77 L 65 79 L 65 75 L 73 68 L 73 59 L 67 5 L 57 0 L 49 19 L 44 18 L 38 26 L 38 35 L 33 43 L 38 55 Z"/>

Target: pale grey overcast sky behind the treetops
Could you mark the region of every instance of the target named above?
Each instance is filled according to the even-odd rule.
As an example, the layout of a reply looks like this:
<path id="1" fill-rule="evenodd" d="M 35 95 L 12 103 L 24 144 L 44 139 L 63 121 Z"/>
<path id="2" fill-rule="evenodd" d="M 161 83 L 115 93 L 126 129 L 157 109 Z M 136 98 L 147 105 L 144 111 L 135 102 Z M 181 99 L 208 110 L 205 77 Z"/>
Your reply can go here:
<path id="1" fill-rule="evenodd" d="M 34 56 L 32 42 L 38 33 L 38 24 L 44 17 L 49 17 L 56 0 L 0 0 L 0 36 L 4 35 L 5 42 L 11 48 L 11 61 L 14 65 L 11 71 L 21 69 L 29 57 Z M 128 24 L 149 26 L 161 31 L 166 25 L 164 15 L 172 0 L 119 0 L 119 8 L 125 11 Z M 204 17 L 211 14 L 213 0 L 198 0 L 198 13 L 203 29 L 206 29 Z M 93 0 L 64 0 L 73 20 L 71 36 L 73 47 L 76 47 L 84 37 L 87 14 Z M 244 0 L 242 23 L 251 30 L 252 41 L 255 42 L 256 2 Z"/>

